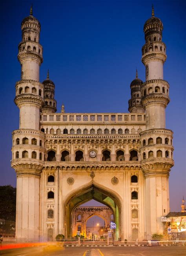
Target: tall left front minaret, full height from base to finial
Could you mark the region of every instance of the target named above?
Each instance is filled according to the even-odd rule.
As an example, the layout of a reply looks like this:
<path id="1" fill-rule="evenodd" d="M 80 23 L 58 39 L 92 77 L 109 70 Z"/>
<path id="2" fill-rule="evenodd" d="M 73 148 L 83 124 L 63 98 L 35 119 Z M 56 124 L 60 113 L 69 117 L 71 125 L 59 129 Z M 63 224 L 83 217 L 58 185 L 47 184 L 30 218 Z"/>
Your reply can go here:
<path id="1" fill-rule="evenodd" d="M 45 134 L 40 131 L 44 86 L 39 82 L 43 61 L 39 44 L 40 22 L 30 15 L 22 21 L 18 46 L 21 80 L 16 83 L 15 104 L 20 109 L 19 129 L 13 131 L 11 166 L 16 171 L 16 238 L 39 239 L 40 173 L 44 164 Z"/>

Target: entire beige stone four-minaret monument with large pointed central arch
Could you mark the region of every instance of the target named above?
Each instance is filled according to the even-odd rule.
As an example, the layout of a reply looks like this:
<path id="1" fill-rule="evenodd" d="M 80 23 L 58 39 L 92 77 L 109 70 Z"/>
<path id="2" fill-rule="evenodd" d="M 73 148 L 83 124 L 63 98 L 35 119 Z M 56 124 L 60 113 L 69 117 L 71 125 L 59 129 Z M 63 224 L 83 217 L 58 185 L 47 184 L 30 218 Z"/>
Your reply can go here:
<path id="1" fill-rule="evenodd" d="M 174 162 L 173 132 L 165 127 L 170 99 L 160 19 L 152 15 L 144 25 L 146 81 L 138 75 L 132 81 L 130 113 L 66 113 L 64 105 L 55 113 L 55 84 L 49 74 L 39 82 L 40 22 L 32 11 L 21 28 L 22 77 L 15 97 L 20 126 L 12 134 L 11 161 L 17 175 L 16 237 L 72 236 L 75 208 L 91 199 L 113 213 L 117 239 L 162 233 Z"/>

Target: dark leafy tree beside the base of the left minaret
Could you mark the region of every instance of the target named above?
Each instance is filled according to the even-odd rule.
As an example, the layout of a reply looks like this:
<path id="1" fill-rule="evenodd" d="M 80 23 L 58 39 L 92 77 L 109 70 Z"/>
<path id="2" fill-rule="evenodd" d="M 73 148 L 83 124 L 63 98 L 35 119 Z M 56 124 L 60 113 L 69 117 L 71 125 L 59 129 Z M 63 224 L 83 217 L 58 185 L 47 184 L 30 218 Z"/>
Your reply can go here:
<path id="1" fill-rule="evenodd" d="M 0 186 L 0 219 L 16 219 L 16 188 L 11 185 Z"/>

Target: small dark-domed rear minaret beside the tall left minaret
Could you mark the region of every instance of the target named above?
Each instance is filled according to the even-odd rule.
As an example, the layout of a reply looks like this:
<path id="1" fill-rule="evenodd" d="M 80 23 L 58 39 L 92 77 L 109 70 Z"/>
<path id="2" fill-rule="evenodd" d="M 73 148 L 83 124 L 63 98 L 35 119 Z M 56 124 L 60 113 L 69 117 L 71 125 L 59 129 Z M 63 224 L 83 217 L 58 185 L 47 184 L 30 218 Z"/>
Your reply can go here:
<path id="1" fill-rule="evenodd" d="M 47 72 L 47 79 L 42 83 L 44 85 L 44 105 L 42 107 L 43 113 L 55 113 L 57 111 L 57 102 L 54 99 L 55 84 L 49 79 L 49 70 Z"/>

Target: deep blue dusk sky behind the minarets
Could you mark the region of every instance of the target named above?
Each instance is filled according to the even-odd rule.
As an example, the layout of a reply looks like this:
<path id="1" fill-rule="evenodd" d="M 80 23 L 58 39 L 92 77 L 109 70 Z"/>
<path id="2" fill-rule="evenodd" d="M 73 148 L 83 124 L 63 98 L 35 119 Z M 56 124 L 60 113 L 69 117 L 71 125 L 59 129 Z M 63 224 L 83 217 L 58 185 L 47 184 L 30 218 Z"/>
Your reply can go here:
<path id="1" fill-rule="evenodd" d="M 171 102 L 166 127 L 173 130 L 175 166 L 170 173 L 170 208 L 180 211 L 186 197 L 185 1 L 153 1 L 155 16 L 164 25 L 167 46 L 164 79 L 170 83 Z M 19 109 L 13 102 L 20 80 L 17 60 L 20 24 L 29 15 L 30 1 L 1 2 L 1 176 L 0 185 L 16 186 L 10 167 L 11 132 L 18 129 Z M 55 82 L 58 112 L 128 112 L 130 83 L 141 62 L 143 26 L 151 17 L 151 1 L 33 1 L 33 15 L 41 23 L 44 63 L 40 81 Z"/>

